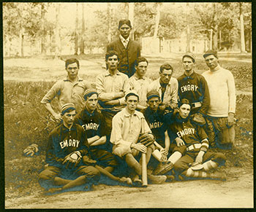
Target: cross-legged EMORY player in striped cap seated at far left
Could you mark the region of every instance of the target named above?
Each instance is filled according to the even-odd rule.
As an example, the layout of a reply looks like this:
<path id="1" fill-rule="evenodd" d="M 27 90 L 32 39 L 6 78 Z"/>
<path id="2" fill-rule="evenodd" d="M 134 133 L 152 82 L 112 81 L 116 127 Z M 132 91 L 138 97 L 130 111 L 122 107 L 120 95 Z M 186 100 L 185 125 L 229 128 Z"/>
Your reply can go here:
<path id="1" fill-rule="evenodd" d="M 75 105 L 61 107 L 63 122 L 49 136 L 45 162 L 47 168 L 39 173 L 39 184 L 48 191 L 61 192 L 99 180 L 99 170 L 86 165 L 89 144 L 83 127 L 74 124 Z"/>

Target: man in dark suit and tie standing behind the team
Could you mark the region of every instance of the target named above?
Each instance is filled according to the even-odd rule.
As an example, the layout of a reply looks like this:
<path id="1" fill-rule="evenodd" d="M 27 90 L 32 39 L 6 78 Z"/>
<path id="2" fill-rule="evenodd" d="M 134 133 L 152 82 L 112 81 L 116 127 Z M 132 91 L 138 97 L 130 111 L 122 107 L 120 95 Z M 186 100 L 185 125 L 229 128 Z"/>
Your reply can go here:
<path id="1" fill-rule="evenodd" d="M 140 44 L 130 39 L 131 30 L 132 25 L 129 20 L 119 20 L 119 38 L 108 44 L 107 47 L 107 52 L 110 50 L 118 52 L 120 57 L 118 70 L 129 77 L 135 74 L 135 60 L 140 57 Z"/>

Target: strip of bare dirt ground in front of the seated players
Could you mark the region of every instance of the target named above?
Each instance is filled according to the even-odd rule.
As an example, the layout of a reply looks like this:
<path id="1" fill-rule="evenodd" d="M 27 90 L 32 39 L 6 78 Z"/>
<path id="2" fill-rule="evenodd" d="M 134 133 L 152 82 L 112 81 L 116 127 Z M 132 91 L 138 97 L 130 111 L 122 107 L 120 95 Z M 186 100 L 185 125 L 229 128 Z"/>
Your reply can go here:
<path id="1" fill-rule="evenodd" d="M 232 168 L 227 181 L 176 181 L 147 188 L 100 184 L 91 192 L 9 199 L 5 208 L 253 208 L 253 173 Z"/>

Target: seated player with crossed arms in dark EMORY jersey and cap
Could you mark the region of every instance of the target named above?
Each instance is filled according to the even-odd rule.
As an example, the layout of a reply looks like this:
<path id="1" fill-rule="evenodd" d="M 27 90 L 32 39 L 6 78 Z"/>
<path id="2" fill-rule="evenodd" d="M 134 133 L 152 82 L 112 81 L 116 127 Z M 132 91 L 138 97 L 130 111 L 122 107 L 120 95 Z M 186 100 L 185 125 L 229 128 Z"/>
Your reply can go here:
<path id="1" fill-rule="evenodd" d="M 112 172 L 117 162 L 113 154 L 107 151 L 108 148 L 105 136 L 105 120 L 97 109 L 98 93 L 94 89 L 86 90 L 84 93 L 85 107 L 79 115 L 78 122 L 86 131 L 87 140 L 90 146 L 91 157 L 97 160 L 98 165 L 105 167 L 105 170 Z"/>

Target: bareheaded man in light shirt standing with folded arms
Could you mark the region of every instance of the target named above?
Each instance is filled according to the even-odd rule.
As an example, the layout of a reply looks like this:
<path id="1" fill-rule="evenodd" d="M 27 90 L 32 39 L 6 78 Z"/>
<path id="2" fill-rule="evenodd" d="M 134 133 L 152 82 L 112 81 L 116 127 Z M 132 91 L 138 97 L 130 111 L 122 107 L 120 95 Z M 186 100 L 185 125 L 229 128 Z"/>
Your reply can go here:
<path id="1" fill-rule="evenodd" d="M 99 94 L 99 105 L 110 135 L 113 116 L 124 109 L 124 95 L 129 90 L 128 76 L 119 72 L 118 52 L 110 51 L 105 55 L 108 70 L 99 74 L 96 79 L 96 90 Z"/>

